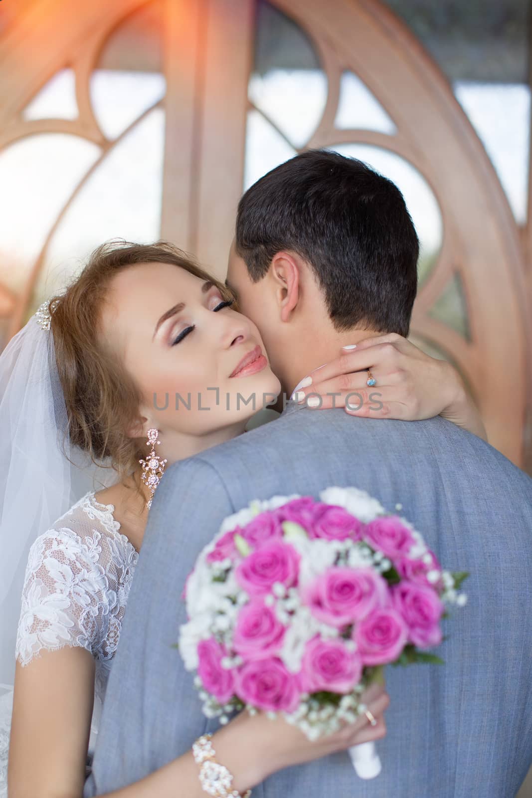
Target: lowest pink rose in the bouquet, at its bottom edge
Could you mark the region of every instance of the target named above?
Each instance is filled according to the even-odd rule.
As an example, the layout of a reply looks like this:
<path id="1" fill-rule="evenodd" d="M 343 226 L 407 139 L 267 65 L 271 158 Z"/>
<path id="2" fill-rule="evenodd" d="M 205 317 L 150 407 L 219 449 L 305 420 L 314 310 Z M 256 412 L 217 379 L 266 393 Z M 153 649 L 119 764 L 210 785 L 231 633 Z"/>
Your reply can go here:
<path id="1" fill-rule="evenodd" d="M 239 668 L 236 693 L 246 704 L 266 712 L 294 712 L 300 699 L 298 677 L 277 657 L 246 662 Z"/>

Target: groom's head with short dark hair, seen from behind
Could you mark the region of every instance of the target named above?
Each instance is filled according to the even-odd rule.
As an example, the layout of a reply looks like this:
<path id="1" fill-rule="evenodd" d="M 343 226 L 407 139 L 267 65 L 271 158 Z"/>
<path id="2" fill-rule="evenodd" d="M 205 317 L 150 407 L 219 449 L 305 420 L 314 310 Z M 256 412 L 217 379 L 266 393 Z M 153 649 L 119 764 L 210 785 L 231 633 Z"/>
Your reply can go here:
<path id="1" fill-rule="evenodd" d="M 283 377 L 286 358 L 318 337 L 408 335 L 418 255 L 396 185 L 360 160 L 313 150 L 242 196 L 227 284 Z"/>

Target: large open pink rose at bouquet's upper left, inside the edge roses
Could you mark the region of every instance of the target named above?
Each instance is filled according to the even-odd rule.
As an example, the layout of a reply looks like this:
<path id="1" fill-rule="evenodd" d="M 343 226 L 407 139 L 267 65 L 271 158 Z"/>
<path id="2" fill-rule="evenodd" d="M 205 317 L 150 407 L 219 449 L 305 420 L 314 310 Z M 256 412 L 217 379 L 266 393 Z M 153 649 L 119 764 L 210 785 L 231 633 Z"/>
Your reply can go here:
<path id="1" fill-rule="evenodd" d="M 298 572 L 298 552 L 288 543 L 273 540 L 247 555 L 234 575 L 250 595 L 264 595 L 276 582 L 292 587 L 298 581 Z"/>

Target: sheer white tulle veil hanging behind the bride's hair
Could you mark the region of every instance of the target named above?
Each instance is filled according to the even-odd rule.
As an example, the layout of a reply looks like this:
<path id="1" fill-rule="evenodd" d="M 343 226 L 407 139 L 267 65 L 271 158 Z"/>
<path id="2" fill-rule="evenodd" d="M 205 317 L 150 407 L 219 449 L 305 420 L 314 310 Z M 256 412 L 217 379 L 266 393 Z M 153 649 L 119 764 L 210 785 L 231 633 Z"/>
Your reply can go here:
<path id="1" fill-rule="evenodd" d="M 86 492 L 116 480 L 69 441 L 45 303 L 0 355 L 0 695 L 14 682 L 31 544 Z"/>

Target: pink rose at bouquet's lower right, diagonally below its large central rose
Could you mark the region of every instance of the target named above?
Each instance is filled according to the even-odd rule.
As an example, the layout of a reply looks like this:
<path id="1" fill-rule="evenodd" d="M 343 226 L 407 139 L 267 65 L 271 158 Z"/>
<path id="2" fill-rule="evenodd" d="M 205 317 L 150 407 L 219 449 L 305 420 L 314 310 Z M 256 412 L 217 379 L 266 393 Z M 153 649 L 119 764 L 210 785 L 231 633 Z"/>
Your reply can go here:
<path id="1" fill-rule="evenodd" d="M 353 640 L 364 665 L 386 665 L 400 657 L 408 642 L 408 629 L 401 615 L 388 607 L 357 623 Z"/>

